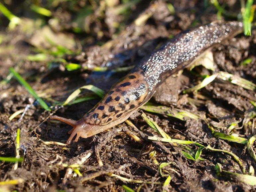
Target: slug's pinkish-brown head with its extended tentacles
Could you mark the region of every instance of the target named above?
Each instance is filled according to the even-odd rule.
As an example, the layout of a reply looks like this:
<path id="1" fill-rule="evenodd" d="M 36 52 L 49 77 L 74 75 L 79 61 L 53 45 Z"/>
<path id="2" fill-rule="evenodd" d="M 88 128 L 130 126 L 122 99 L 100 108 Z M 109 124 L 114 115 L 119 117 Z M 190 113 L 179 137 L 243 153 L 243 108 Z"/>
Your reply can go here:
<path id="1" fill-rule="evenodd" d="M 88 124 L 84 123 L 84 121 L 79 120 L 79 121 L 74 121 L 71 119 L 66 119 L 64 117 L 59 117 L 57 115 L 53 115 L 50 117 L 51 119 L 59 120 L 61 122 L 64 122 L 68 125 L 71 125 L 73 129 L 71 129 L 68 134 L 71 134 L 70 137 L 68 138 L 66 144 L 70 144 L 74 136 L 76 135 L 75 142 L 78 141 L 79 137 L 82 138 L 87 138 L 87 134 L 85 132 L 85 128 L 88 127 Z"/>

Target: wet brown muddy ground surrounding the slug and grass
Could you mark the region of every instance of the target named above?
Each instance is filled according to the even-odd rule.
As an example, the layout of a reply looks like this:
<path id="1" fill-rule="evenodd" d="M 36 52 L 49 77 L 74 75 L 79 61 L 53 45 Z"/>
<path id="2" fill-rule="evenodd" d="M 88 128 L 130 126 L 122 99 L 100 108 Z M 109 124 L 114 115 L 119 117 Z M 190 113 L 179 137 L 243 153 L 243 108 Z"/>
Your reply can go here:
<path id="1" fill-rule="evenodd" d="M 31 13 L 31 10 L 26 12 L 30 1 L 8 2 L 5 6 L 18 17 L 39 17 Z M 78 120 L 100 97 L 64 107 L 56 105 L 56 101 L 65 101 L 75 89 L 83 85 L 91 84 L 107 91 L 128 73 L 128 70 L 111 70 L 133 66 L 173 35 L 217 19 L 216 8 L 207 1 L 138 1 L 127 7 L 129 12 L 116 15 L 113 10 L 122 5 L 120 2 L 117 1 L 112 7 L 105 6 L 103 12 L 100 12 L 100 4 L 105 1 L 95 4 L 92 2 L 59 3 L 56 7 L 49 8 L 53 13 L 50 19 L 43 17 L 46 23 L 39 27 L 29 25 L 26 29 L 25 24 L 13 30 L 7 29 L 9 21 L 0 15 L 0 156 L 15 157 L 16 132 L 20 128 L 19 152 L 23 157 L 18 167 L 13 162 L 0 163 L 0 181 L 20 179 L 16 185 L 0 185 L 1 189 L 124 191 L 122 185 L 126 185 L 134 191 L 255 191 L 256 187 L 253 185 L 228 174 L 217 174 L 214 168 L 216 163 L 220 163 L 225 171 L 242 173 L 237 161 L 228 154 L 203 149 L 200 155 L 203 159 L 193 161 L 186 158 L 182 151 L 196 152 L 198 147 L 195 145 L 149 140 L 148 136 L 161 136 L 146 124 L 141 114 L 146 113 L 147 117 L 154 120 L 173 139 L 195 141 L 234 153 L 241 160 L 245 174 L 249 174 L 250 166 L 256 168 L 256 162 L 246 150 L 246 145 L 214 137 L 206 122 L 216 132 L 250 139 L 255 135 L 256 112 L 251 104 L 251 101 L 256 102 L 255 89 L 248 90 L 229 81 L 215 79 L 197 92 L 184 94 L 183 91 L 200 83 L 203 75 L 219 71 L 256 83 L 256 31 L 252 31 L 250 37 L 240 34 L 213 48 L 214 72 L 200 65 L 192 71 L 185 69 L 179 75 L 168 78 L 150 100 L 155 105 L 170 107 L 168 113 L 161 115 L 139 109 L 129 118 L 135 128 L 122 123 L 107 132 L 87 139 L 80 138 L 78 142 L 65 145 L 69 137 L 67 132 L 71 128 L 50 120 L 50 115 Z M 87 27 L 82 28 L 84 30 L 75 33 L 72 23 L 75 11 L 90 3 L 94 4 L 93 11 L 88 16 L 90 22 L 87 22 Z M 240 13 L 240 1 L 219 3 L 227 11 L 220 16 L 221 19 L 235 20 L 232 14 Z M 175 11 L 172 11 L 171 5 Z M 47 7 L 46 4 L 40 6 Z M 70 11 L 69 6 L 74 9 Z M 148 19 L 136 24 L 136 19 L 143 14 Z M 58 18 L 59 22 L 54 23 L 56 20 L 52 20 L 53 18 Z M 116 23 L 122 25 L 114 27 Z M 28 59 L 28 55 L 45 53 L 40 48 L 56 50 L 56 46 L 49 41 L 41 40 L 44 33 L 50 33 L 48 29 L 42 32 L 45 26 L 50 26 L 48 29 L 54 34 L 54 41 L 59 38 L 55 43 L 67 50 L 63 54 L 56 54 L 57 56 L 47 52 L 49 57 L 45 60 Z M 60 34 L 64 34 L 64 37 Z M 65 43 L 65 40 L 70 43 Z M 82 68 L 68 71 L 60 58 L 67 63 L 79 64 Z M 248 58 L 250 62 L 241 64 Z M 96 71 L 97 66 L 107 67 L 107 71 Z M 51 106 L 51 112 L 44 110 L 14 77 L 9 79 L 10 67 L 14 67 Z M 79 96 L 91 95 L 94 94 L 90 91 L 82 91 Z M 11 121 L 8 120 L 13 113 L 25 108 L 27 111 L 23 117 L 20 113 Z M 205 119 L 185 117 L 181 120 L 170 117 L 167 114 L 172 114 L 172 109 L 184 110 Z M 233 125 L 231 131 L 228 129 L 230 125 Z M 131 135 L 136 135 L 141 141 L 134 141 Z M 159 165 L 164 162 L 169 164 L 163 168 L 161 175 Z M 69 167 L 70 165 L 81 166 L 74 168 Z M 115 175 L 148 183 L 124 181 Z M 170 184 L 163 187 L 168 175 L 171 177 Z"/>

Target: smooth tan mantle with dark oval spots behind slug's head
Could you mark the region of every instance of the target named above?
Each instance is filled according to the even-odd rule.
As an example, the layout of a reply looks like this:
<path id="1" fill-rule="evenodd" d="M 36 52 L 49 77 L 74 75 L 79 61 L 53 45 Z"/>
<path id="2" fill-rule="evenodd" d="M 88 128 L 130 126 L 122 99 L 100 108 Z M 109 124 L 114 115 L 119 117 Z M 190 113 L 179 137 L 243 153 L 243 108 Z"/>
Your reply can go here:
<path id="1" fill-rule="evenodd" d="M 146 85 L 143 75 L 139 73 L 127 75 L 117 82 L 114 88 L 95 106 L 93 113 L 88 112 L 86 123 L 107 125 L 116 118 L 126 117 L 138 106 L 138 103 L 145 101 L 148 96 Z"/>

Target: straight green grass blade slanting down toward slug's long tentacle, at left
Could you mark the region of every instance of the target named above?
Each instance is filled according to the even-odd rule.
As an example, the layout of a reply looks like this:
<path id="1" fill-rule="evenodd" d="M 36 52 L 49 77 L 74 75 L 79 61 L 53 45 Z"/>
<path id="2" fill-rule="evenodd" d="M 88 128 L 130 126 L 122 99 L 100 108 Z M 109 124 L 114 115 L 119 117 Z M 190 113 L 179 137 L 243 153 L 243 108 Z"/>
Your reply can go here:
<path id="1" fill-rule="evenodd" d="M 48 105 L 41 99 L 36 92 L 32 89 L 32 87 L 20 76 L 18 72 L 14 70 L 13 67 L 10 68 L 10 72 L 13 73 L 14 77 L 19 81 L 20 84 L 22 84 L 27 91 L 37 99 L 39 104 L 46 110 L 46 111 L 51 111 L 51 109 L 48 107 Z"/>

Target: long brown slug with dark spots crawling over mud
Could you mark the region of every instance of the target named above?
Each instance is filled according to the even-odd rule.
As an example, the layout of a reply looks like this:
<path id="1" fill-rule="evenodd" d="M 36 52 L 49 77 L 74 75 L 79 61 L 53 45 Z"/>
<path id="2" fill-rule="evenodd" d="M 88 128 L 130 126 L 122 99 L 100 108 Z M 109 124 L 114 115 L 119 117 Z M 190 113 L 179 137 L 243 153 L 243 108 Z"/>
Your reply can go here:
<path id="1" fill-rule="evenodd" d="M 124 122 L 155 93 L 156 88 L 171 74 L 185 68 L 205 50 L 231 38 L 243 30 L 241 22 L 217 21 L 187 30 L 146 56 L 128 75 L 115 83 L 108 93 L 82 119 L 74 121 L 59 116 L 51 119 L 73 127 L 67 140 L 77 134 L 88 138 Z"/>

